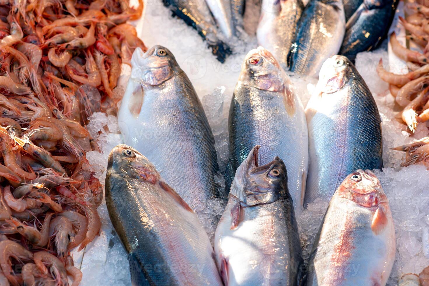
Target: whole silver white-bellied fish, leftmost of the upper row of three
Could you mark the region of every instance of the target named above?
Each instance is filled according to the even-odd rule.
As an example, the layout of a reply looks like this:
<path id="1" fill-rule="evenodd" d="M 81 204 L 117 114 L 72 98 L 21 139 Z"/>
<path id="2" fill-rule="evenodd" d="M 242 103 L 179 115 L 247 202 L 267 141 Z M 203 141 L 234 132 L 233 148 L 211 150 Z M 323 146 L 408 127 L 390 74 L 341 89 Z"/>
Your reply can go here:
<path id="1" fill-rule="evenodd" d="M 196 92 L 173 54 L 137 48 L 118 113 L 124 143 L 144 152 L 195 210 L 218 197 L 215 140 Z"/>

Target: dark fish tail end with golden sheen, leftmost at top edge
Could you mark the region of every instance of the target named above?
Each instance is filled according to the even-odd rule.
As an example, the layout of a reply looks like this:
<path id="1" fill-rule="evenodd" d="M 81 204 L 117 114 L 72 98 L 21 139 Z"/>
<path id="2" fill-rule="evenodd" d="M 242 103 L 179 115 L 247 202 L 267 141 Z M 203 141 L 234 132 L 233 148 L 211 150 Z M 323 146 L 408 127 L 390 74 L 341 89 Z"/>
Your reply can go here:
<path id="1" fill-rule="evenodd" d="M 163 0 L 164 6 L 169 7 L 173 15 L 177 15 L 187 25 L 198 31 L 207 42 L 211 52 L 224 63 L 232 53 L 230 47 L 218 37 L 218 31 L 210 10 L 203 0 Z"/>

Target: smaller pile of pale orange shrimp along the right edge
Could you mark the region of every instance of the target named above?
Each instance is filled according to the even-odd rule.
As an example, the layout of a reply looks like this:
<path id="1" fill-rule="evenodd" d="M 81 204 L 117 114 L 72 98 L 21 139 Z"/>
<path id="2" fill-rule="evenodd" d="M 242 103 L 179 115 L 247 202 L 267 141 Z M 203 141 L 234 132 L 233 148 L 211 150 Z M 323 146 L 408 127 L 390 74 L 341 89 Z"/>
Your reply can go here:
<path id="1" fill-rule="evenodd" d="M 429 168 L 429 7 L 410 3 L 405 13 L 405 19 L 399 17 L 399 21 L 407 31 L 407 39 L 420 47 L 420 51 L 402 46 L 393 32 L 390 35 L 392 51 L 407 63 L 409 72 L 402 75 L 388 72 L 380 59 L 377 73 L 389 84 L 390 93 L 395 97 L 400 111 L 398 120 L 418 139 L 394 148 L 405 151 L 401 166 L 421 162 Z"/>

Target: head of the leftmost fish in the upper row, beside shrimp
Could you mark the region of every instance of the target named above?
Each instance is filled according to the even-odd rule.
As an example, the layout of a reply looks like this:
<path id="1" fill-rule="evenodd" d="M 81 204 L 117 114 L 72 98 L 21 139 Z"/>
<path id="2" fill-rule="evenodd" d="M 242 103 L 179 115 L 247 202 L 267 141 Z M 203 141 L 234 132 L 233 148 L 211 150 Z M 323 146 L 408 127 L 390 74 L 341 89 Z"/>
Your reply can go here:
<path id="1" fill-rule="evenodd" d="M 162 84 L 180 70 L 172 52 L 160 45 L 153 46 L 145 53 L 136 48 L 131 63 L 140 69 L 141 80 L 149 85 Z"/>

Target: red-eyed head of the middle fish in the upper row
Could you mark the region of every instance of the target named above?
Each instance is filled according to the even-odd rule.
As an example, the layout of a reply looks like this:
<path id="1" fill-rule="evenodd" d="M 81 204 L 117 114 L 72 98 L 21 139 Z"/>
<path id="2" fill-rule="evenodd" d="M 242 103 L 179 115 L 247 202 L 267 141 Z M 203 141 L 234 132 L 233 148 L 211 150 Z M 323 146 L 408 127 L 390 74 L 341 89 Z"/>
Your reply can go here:
<path id="1" fill-rule="evenodd" d="M 263 47 L 248 52 L 242 64 L 241 82 L 260 90 L 283 90 L 287 75 L 273 55 Z"/>

